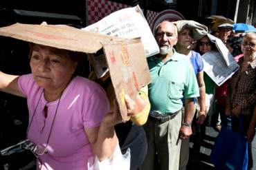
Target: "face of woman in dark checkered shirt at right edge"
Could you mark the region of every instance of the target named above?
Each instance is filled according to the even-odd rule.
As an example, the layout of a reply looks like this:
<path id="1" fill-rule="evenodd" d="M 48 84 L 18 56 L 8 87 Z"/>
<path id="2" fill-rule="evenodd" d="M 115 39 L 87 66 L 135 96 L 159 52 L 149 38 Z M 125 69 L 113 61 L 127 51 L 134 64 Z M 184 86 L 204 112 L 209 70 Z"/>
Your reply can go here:
<path id="1" fill-rule="evenodd" d="M 247 33 L 241 42 L 241 51 L 245 56 L 256 54 L 256 34 Z"/>

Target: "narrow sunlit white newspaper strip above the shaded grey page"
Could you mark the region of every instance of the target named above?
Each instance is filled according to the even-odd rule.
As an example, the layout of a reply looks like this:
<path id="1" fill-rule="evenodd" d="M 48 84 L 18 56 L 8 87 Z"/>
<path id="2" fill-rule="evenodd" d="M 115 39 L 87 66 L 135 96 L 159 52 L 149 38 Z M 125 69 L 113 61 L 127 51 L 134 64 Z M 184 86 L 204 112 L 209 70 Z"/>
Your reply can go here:
<path id="1" fill-rule="evenodd" d="M 210 41 L 212 41 L 212 43 L 216 45 L 217 49 L 221 53 L 221 56 L 223 56 L 223 61 L 226 63 L 226 65 L 229 66 L 234 64 L 234 63 L 230 63 L 230 62 L 235 62 L 235 60 L 230 61 L 230 58 L 233 58 L 233 56 L 228 50 L 228 48 L 226 47 L 226 45 L 221 41 L 221 39 L 218 39 L 217 37 L 211 34 L 207 34 L 207 36 L 209 37 Z"/>

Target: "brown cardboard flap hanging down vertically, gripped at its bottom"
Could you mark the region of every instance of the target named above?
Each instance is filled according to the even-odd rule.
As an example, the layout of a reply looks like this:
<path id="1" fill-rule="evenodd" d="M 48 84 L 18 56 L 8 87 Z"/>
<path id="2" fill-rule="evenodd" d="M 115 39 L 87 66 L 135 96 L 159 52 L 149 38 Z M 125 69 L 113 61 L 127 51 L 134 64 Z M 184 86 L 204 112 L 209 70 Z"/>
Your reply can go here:
<path id="1" fill-rule="evenodd" d="M 135 99 L 140 88 L 151 81 L 143 43 L 140 39 L 127 39 L 102 45 L 121 116 L 126 120 L 125 94 Z"/>

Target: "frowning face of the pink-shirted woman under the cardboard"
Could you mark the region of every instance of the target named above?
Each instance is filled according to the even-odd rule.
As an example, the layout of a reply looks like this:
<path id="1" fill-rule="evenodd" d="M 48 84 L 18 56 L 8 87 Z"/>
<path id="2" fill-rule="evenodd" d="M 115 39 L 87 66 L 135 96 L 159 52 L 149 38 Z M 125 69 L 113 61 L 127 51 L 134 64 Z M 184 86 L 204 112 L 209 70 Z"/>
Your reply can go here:
<path id="1" fill-rule="evenodd" d="M 35 82 L 48 90 L 64 89 L 75 72 L 77 63 L 65 50 L 33 45 L 30 67 Z"/>

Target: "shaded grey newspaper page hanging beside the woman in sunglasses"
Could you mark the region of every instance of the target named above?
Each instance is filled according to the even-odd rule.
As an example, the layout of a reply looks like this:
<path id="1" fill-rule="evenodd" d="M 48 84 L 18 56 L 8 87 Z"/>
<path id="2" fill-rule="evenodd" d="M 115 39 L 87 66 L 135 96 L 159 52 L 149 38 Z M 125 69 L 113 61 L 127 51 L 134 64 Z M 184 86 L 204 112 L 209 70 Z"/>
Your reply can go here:
<path id="1" fill-rule="evenodd" d="M 216 85 L 220 86 L 228 80 L 237 70 L 239 65 L 233 59 L 232 55 L 228 56 L 226 60 L 230 65 L 226 65 L 226 61 L 220 52 L 210 51 L 202 56 L 203 58 L 203 71 L 212 78 Z"/>

